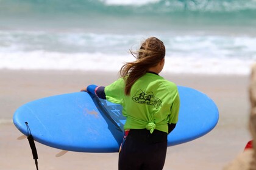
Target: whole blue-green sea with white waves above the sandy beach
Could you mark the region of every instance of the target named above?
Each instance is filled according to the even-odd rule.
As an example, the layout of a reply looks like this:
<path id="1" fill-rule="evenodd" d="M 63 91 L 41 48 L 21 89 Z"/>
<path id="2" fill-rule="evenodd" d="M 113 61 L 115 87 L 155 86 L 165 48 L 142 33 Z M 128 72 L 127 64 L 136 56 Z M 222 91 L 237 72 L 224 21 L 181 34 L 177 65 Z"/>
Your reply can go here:
<path id="1" fill-rule="evenodd" d="M 157 36 L 163 72 L 247 75 L 255 16 L 255 0 L 1 0 L 0 69 L 118 71 Z"/>

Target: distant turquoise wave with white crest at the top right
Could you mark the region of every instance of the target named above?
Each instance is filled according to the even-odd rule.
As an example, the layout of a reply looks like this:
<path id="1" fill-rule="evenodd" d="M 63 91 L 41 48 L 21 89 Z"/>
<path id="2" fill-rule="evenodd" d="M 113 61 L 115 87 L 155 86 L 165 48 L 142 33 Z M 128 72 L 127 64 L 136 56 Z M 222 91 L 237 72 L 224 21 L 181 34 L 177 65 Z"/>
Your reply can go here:
<path id="1" fill-rule="evenodd" d="M 102 0 L 106 5 L 137 6 L 143 7 L 143 11 L 162 13 L 169 12 L 242 12 L 244 10 L 255 10 L 254 0 L 144 0 L 144 1 L 116 1 Z M 146 7 L 146 8 L 145 8 Z M 141 8 L 142 10 L 142 8 Z"/>

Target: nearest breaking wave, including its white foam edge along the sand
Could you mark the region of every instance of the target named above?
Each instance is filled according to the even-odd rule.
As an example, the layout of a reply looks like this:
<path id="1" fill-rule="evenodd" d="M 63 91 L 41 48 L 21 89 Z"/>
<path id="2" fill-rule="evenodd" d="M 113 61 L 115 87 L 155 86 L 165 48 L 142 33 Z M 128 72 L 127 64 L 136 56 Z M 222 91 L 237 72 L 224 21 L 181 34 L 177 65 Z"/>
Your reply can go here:
<path id="1" fill-rule="evenodd" d="M 149 35 L 87 32 L 0 32 L 0 69 L 118 71 Z M 247 74 L 256 38 L 158 34 L 166 46 L 166 72 Z"/>

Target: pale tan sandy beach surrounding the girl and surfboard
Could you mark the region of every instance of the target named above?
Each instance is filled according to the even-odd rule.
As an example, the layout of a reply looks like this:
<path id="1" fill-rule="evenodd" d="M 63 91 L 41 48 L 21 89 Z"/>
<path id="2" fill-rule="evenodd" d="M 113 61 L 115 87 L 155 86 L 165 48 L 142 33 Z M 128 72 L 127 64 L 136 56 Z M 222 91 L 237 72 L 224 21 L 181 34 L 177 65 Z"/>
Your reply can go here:
<path id="1" fill-rule="evenodd" d="M 251 139 L 247 128 L 249 77 L 237 75 L 171 75 L 177 85 L 193 87 L 212 98 L 219 109 L 219 123 L 212 132 L 197 140 L 168 148 L 165 170 L 218 170 L 243 152 Z M 12 123 L 18 107 L 38 98 L 77 92 L 88 84 L 106 86 L 118 78 L 112 72 L 0 70 L 0 167 L 35 169 L 26 139 Z M 68 152 L 55 157 L 59 149 L 35 143 L 39 169 L 118 169 L 118 153 Z"/>

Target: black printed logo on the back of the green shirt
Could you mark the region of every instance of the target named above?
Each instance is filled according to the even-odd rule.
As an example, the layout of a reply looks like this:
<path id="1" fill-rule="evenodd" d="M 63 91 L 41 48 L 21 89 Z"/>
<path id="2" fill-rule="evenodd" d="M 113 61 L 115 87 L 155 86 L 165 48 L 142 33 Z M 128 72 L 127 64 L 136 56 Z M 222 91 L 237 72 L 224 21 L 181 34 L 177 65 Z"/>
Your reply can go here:
<path id="1" fill-rule="evenodd" d="M 138 90 L 138 92 L 132 97 L 132 100 L 136 103 L 152 105 L 156 109 L 162 106 L 162 101 L 155 97 L 153 92 L 146 94 L 143 90 Z"/>

